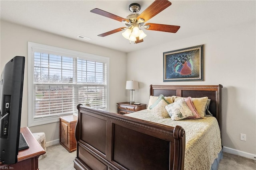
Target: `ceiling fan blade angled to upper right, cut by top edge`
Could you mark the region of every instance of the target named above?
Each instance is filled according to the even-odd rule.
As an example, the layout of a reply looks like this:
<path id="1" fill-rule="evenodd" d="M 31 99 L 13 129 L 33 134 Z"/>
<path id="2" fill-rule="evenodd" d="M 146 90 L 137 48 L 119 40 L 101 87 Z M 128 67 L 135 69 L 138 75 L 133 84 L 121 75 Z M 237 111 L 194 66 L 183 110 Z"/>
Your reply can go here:
<path id="1" fill-rule="evenodd" d="M 168 0 L 155 0 L 148 8 L 146 8 L 146 10 L 144 10 L 137 17 L 137 19 L 143 18 L 145 20 L 144 22 L 146 22 L 171 4 L 172 3 Z"/>

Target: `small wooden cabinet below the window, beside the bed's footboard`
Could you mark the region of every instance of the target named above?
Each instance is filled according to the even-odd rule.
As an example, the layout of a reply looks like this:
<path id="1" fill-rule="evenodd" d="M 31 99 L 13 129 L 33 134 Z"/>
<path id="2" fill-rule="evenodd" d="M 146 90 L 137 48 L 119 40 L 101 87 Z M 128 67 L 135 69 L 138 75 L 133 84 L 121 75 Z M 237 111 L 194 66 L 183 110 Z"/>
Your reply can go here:
<path id="1" fill-rule="evenodd" d="M 77 118 L 75 115 L 60 117 L 60 145 L 69 152 L 76 150 L 75 129 Z"/>

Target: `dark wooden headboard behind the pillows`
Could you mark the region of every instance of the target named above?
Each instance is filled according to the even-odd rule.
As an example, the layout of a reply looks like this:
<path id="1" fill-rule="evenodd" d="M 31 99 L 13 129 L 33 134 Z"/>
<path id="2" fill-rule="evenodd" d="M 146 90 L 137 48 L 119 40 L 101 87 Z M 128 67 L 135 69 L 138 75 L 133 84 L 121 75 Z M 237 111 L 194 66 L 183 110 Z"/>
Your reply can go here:
<path id="1" fill-rule="evenodd" d="M 207 96 L 211 102 L 209 111 L 216 117 L 221 130 L 221 89 L 222 85 L 150 85 L 150 96 L 180 96 L 201 98 Z"/>

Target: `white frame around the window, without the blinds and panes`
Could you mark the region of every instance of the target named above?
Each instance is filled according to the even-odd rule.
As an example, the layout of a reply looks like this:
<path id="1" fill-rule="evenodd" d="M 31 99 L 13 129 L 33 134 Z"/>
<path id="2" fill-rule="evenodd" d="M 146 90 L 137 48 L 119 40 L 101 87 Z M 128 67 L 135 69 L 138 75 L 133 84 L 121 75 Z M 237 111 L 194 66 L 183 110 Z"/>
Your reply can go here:
<path id="1" fill-rule="evenodd" d="M 109 109 L 109 58 L 99 55 L 93 55 L 88 53 L 82 53 L 79 51 L 73 51 L 69 49 L 63 49 L 60 47 L 53 47 L 50 45 L 43 45 L 38 43 L 33 43 L 28 41 L 28 127 L 43 125 L 47 123 L 54 123 L 59 121 L 59 117 L 44 117 L 40 119 L 34 119 L 34 101 L 33 101 L 33 91 L 34 91 L 34 51 L 41 53 L 48 53 L 60 56 L 69 56 L 79 59 L 85 59 L 89 61 L 102 62 L 107 64 L 107 84 L 106 84 L 106 95 L 107 95 L 107 108 Z M 33 89 L 33 90 L 31 90 Z"/>

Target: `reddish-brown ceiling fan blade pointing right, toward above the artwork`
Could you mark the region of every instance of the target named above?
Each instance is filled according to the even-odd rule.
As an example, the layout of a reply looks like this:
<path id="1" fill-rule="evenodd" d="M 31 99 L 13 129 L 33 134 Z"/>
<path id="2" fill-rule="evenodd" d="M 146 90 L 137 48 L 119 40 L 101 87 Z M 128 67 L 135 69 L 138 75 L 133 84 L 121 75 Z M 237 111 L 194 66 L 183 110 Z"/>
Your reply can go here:
<path id="1" fill-rule="evenodd" d="M 146 25 L 149 25 L 149 28 L 146 28 L 148 30 L 163 31 L 163 32 L 168 32 L 168 33 L 176 33 L 180 29 L 180 26 L 177 26 L 177 25 L 146 23 L 144 26 L 146 26 Z"/>

